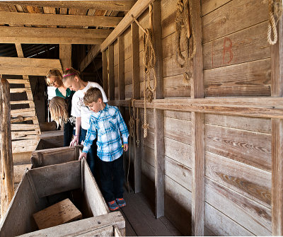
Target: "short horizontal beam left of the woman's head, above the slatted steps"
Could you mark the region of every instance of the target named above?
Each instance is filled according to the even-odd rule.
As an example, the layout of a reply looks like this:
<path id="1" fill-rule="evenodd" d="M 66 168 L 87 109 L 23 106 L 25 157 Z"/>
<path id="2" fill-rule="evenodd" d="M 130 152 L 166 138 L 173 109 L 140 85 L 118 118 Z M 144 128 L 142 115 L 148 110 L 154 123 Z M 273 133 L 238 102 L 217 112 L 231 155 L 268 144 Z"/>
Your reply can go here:
<path id="1" fill-rule="evenodd" d="M 0 57 L 0 74 L 4 75 L 46 76 L 50 69 L 62 70 L 60 60 Z"/>

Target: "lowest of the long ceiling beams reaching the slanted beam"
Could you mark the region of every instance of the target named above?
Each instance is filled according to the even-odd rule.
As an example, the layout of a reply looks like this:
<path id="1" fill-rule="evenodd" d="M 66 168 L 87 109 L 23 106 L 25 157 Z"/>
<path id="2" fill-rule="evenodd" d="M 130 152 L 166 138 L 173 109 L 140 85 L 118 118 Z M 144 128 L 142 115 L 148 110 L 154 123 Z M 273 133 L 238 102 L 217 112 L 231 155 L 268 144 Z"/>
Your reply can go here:
<path id="1" fill-rule="evenodd" d="M 83 28 L 0 27 L 0 43 L 100 44 L 112 30 Z"/>

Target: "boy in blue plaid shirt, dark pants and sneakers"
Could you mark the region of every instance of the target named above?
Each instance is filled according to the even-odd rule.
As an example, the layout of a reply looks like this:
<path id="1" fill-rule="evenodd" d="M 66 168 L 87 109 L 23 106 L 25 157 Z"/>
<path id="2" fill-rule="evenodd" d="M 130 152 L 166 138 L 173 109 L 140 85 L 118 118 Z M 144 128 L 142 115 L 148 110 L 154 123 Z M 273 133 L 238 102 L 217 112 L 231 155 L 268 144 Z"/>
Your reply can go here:
<path id="1" fill-rule="evenodd" d="M 116 106 L 105 105 L 98 88 L 89 88 L 83 97 L 83 102 L 94 113 L 89 120 L 90 127 L 79 160 L 86 158 L 93 140 L 98 135 L 96 144 L 97 155 L 100 158 L 101 190 L 109 209 L 115 211 L 126 205 L 123 198 L 124 169 L 120 134 L 124 151 L 127 151 L 129 132 L 119 109 Z"/>

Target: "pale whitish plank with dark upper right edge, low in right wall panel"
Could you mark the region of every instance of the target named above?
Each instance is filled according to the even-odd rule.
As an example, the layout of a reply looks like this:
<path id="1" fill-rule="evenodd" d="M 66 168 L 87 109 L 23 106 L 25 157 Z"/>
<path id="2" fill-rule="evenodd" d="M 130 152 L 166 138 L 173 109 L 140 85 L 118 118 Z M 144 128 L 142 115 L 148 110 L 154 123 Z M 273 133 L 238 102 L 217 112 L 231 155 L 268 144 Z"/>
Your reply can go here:
<path id="1" fill-rule="evenodd" d="M 271 210 L 208 178 L 205 201 L 256 236 L 271 236 Z"/>

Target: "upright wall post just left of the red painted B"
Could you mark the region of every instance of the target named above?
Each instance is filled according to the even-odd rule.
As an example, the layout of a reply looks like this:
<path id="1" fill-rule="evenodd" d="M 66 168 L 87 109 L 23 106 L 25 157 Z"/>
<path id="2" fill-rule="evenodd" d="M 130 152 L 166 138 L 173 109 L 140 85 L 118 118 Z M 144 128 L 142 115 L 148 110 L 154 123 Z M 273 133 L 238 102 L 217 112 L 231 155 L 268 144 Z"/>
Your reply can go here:
<path id="1" fill-rule="evenodd" d="M 202 18 L 200 0 L 189 1 L 195 25 L 196 54 L 193 59 L 191 97 L 204 97 Z M 187 67 L 189 69 L 190 67 Z M 204 113 L 192 112 L 192 235 L 204 236 Z"/>

